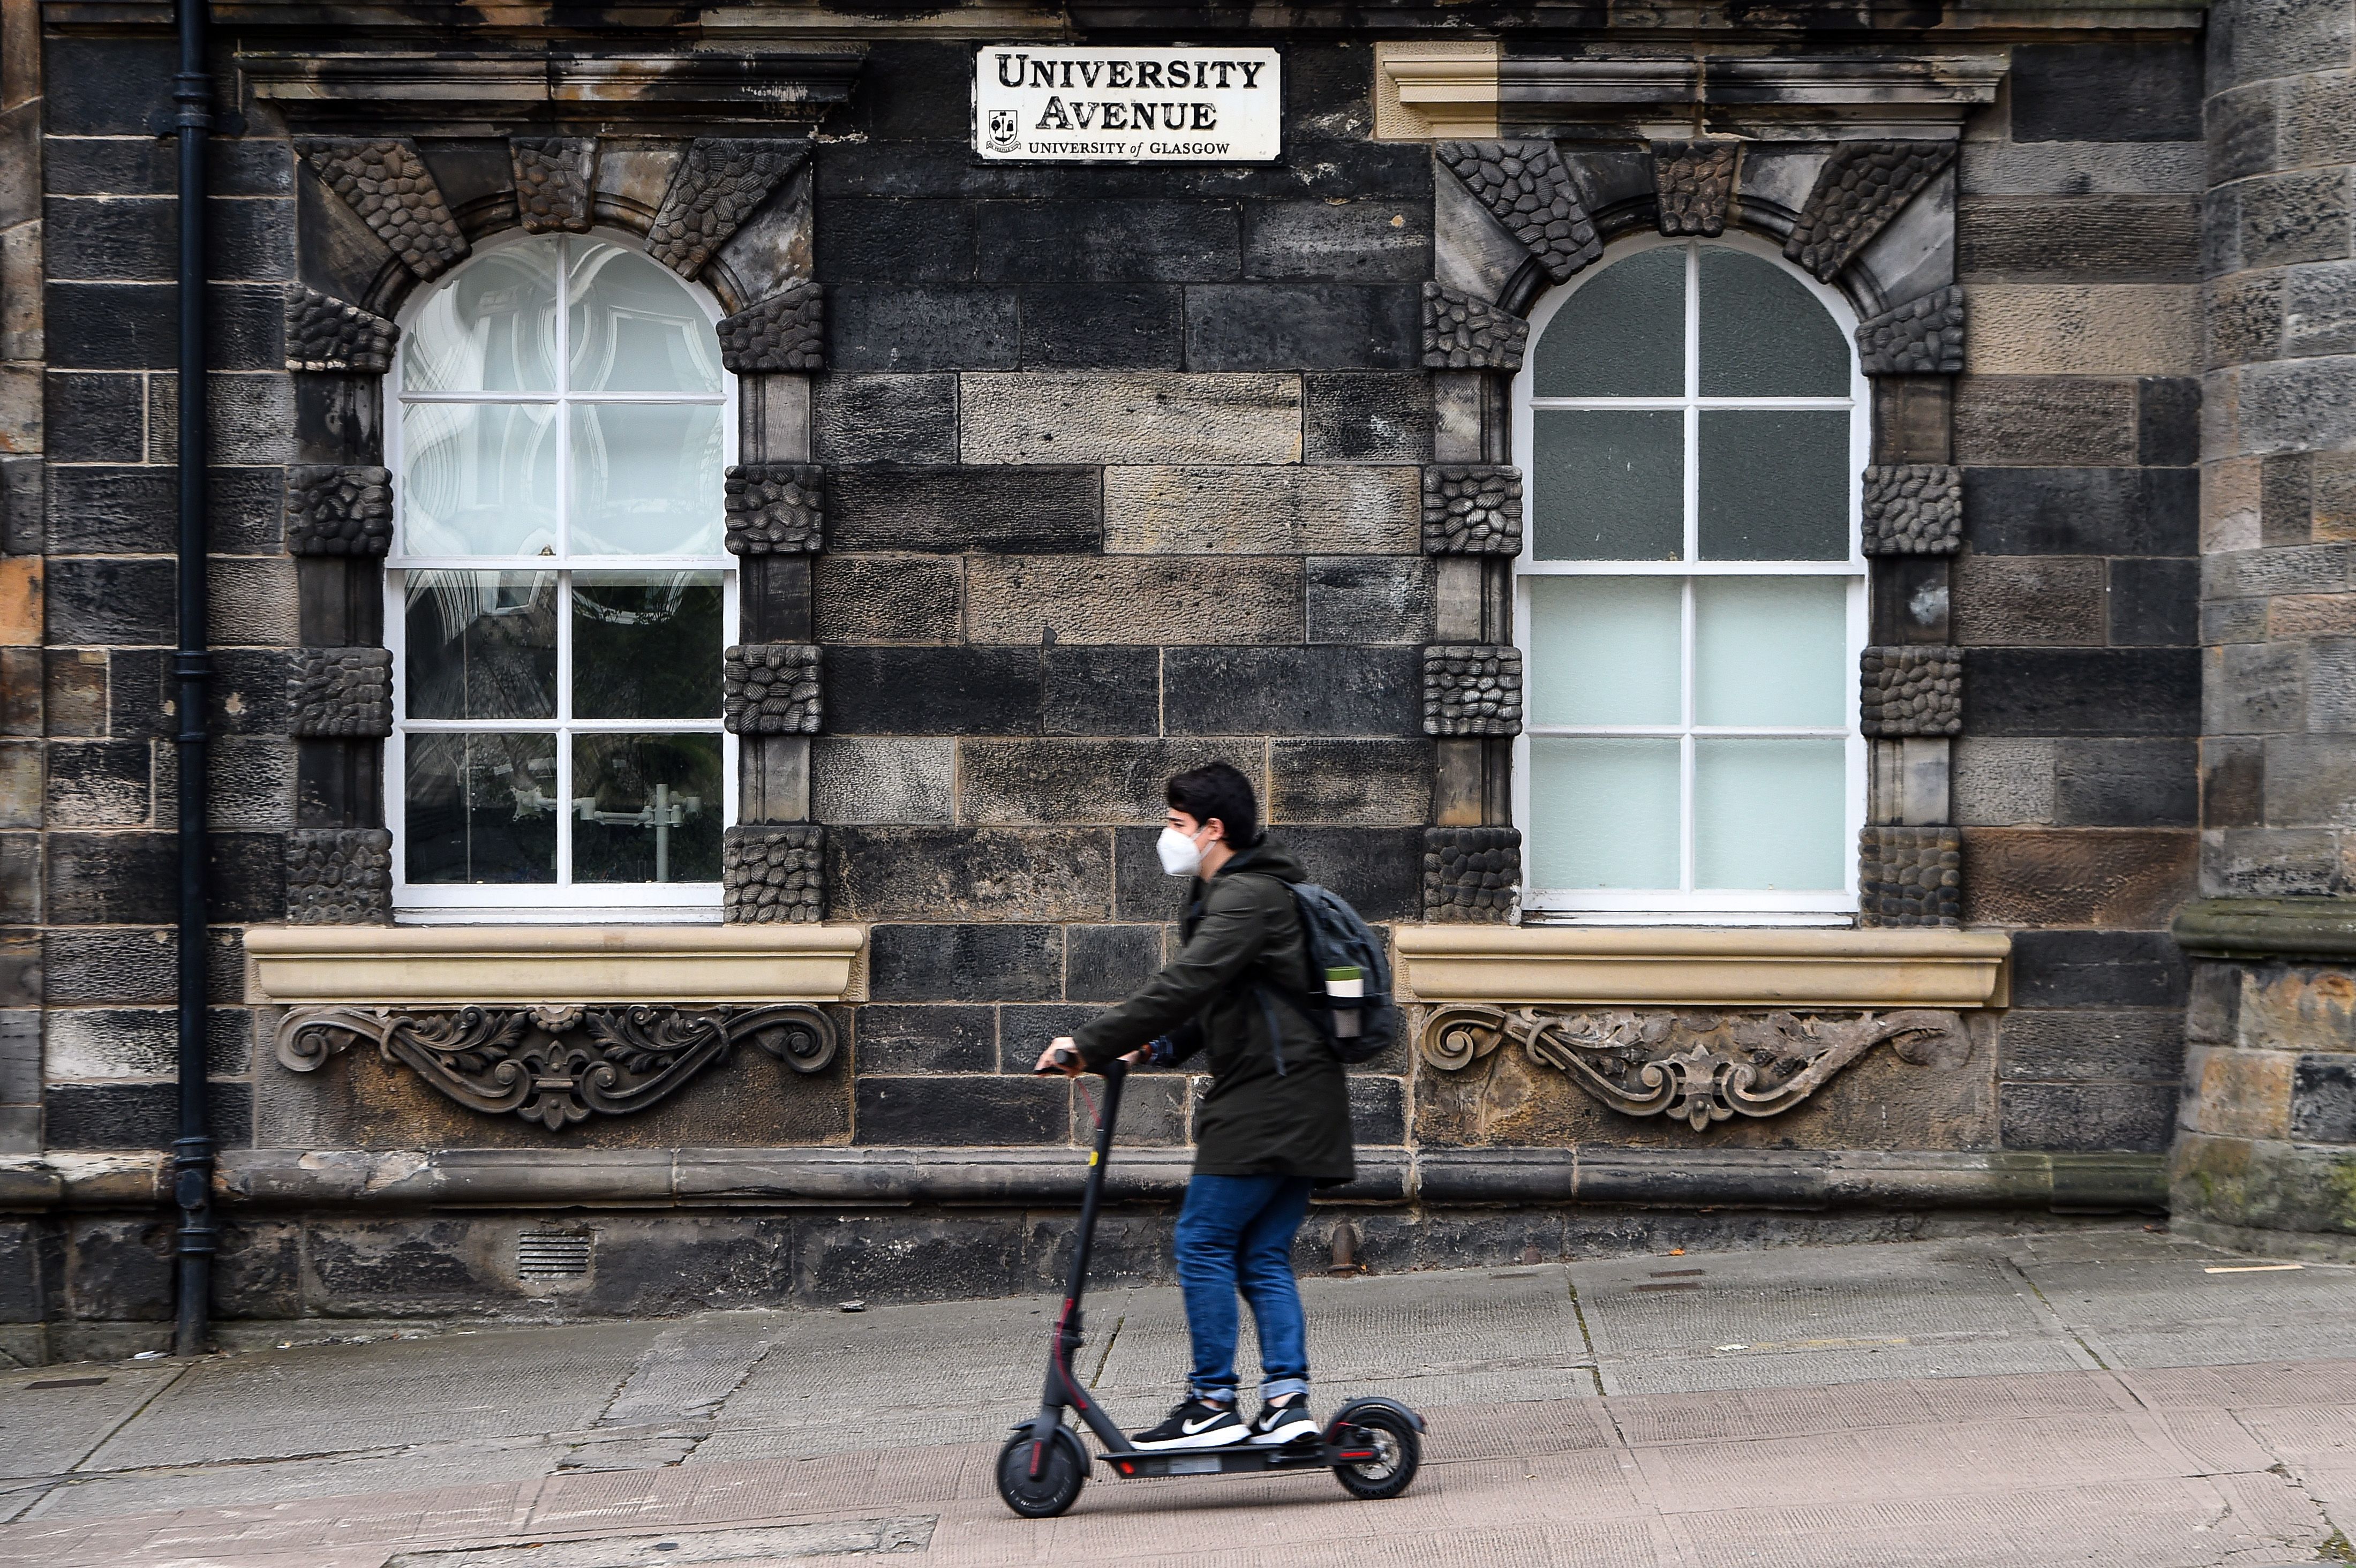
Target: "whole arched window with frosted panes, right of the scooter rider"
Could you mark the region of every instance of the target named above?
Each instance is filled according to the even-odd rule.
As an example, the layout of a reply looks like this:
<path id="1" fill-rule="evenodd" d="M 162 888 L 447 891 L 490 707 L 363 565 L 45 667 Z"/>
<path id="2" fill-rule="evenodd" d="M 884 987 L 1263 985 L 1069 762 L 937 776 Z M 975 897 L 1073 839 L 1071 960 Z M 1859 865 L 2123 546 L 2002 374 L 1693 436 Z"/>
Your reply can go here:
<path id="1" fill-rule="evenodd" d="M 1842 918 L 1866 784 L 1854 318 L 1729 235 L 1628 245 L 1531 325 L 1524 911 Z"/>

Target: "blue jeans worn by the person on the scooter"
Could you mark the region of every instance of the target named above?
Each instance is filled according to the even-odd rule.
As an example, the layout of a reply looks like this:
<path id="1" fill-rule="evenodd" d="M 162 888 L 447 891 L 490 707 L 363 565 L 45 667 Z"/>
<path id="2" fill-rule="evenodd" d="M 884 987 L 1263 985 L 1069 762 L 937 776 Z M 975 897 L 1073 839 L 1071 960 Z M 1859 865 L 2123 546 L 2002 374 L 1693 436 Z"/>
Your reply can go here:
<path id="1" fill-rule="evenodd" d="M 1260 1398 L 1308 1394 L 1310 1349 L 1293 1283 L 1293 1231 L 1310 1212 L 1308 1177 L 1206 1177 L 1178 1210 L 1178 1288 L 1194 1340 L 1194 1398 L 1235 1398 L 1235 1290 L 1260 1330 Z"/>

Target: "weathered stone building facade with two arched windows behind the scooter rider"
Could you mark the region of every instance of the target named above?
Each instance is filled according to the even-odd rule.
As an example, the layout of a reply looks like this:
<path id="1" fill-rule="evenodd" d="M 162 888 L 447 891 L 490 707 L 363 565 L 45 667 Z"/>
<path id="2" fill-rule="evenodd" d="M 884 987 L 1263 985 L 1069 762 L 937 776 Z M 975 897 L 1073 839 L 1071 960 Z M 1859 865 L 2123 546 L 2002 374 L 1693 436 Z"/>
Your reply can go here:
<path id="1" fill-rule="evenodd" d="M 174 54 L 0 16 L 31 1361 L 172 1309 Z M 224 1333 L 1044 1283 L 1211 758 L 1411 1001 L 1305 1267 L 2356 1231 L 2347 0 L 212 16 Z M 1282 153 L 980 158 L 1058 45 Z"/>

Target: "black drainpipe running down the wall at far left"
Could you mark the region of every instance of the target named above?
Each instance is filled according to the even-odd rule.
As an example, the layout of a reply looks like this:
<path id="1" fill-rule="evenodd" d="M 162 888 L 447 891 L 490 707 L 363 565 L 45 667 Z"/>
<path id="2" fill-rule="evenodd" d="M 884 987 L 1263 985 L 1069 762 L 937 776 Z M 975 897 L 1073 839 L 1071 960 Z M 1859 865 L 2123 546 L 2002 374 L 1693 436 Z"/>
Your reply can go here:
<path id="1" fill-rule="evenodd" d="M 203 1356 L 212 1307 L 212 1123 L 205 1104 L 205 71 L 207 0 L 179 0 L 179 1137 L 172 1198 L 179 1203 L 172 1354 Z"/>

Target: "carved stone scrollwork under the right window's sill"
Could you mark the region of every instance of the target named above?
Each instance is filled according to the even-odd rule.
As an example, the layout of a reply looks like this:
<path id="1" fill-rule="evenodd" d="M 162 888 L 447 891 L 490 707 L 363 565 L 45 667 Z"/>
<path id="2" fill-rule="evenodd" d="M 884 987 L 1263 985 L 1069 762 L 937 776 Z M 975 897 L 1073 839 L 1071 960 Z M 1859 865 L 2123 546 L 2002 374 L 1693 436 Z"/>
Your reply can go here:
<path id="1" fill-rule="evenodd" d="M 1802 1012 L 1560 1012 L 1548 1008 L 1432 1008 L 1423 1059 L 1458 1071 L 1505 1041 L 1626 1116 L 1666 1116 L 1694 1130 L 1734 1116 L 1781 1116 L 1882 1041 L 1915 1067 L 1972 1055 L 1953 1012 L 1908 1008 L 1826 1017 Z"/>

